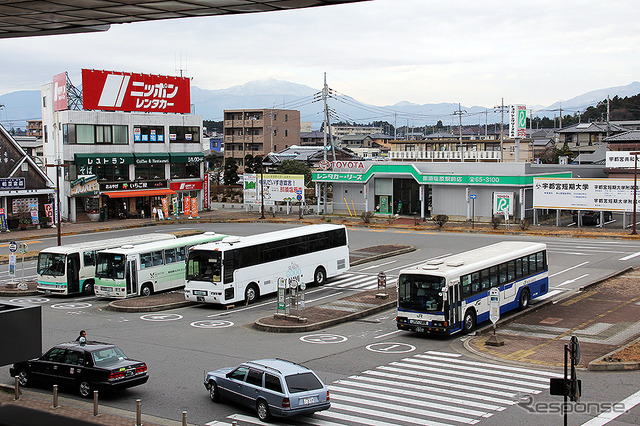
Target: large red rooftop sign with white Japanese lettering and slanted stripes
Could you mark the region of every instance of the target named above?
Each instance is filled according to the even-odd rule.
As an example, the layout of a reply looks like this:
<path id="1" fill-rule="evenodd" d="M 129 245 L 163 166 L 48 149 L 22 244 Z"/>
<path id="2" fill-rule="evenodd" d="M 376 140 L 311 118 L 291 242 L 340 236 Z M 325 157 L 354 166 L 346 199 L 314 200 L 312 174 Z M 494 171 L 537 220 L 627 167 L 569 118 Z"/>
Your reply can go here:
<path id="1" fill-rule="evenodd" d="M 189 78 L 82 70 L 84 109 L 191 112 Z"/>

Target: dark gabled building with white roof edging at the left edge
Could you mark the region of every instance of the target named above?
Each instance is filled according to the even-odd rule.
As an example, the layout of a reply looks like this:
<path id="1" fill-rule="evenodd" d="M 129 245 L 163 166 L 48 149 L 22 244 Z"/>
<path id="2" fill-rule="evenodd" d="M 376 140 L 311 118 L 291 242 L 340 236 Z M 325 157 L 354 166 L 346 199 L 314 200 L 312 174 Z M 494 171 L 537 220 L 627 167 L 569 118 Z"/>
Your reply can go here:
<path id="1" fill-rule="evenodd" d="M 55 183 L 0 125 L 0 208 L 9 229 L 21 220 L 36 224 L 53 206 Z M 35 211 L 35 213 L 33 213 Z"/>

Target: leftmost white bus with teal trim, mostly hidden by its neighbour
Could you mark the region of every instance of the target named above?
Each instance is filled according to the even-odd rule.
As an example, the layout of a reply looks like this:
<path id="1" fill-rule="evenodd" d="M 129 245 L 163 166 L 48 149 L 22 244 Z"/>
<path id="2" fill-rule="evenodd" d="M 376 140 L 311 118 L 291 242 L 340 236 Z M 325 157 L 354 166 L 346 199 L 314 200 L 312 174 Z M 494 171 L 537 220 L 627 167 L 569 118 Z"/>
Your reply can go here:
<path id="1" fill-rule="evenodd" d="M 176 236 L 172 234 L 146 234 L 46 248 L 38 254 L 37 288 L 48 294 L 84 293 L 92 295 L 98 251 L 134 242 L 175 238 Z"/>

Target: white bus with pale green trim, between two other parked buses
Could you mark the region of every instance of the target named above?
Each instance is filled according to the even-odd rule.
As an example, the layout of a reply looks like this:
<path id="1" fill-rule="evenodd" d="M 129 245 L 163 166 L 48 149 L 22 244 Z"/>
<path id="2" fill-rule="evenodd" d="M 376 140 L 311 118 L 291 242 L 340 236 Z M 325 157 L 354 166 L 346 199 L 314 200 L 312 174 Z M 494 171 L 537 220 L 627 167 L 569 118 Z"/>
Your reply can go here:
<path id="1" fill-rule="evenodd" d="M 123 299 L 183 287 L 189 247 L 224 237 L 226 235 L 205 232 L 175 240 L 103 250 L 98 253 L 96 263 L 96 296 Z"/>

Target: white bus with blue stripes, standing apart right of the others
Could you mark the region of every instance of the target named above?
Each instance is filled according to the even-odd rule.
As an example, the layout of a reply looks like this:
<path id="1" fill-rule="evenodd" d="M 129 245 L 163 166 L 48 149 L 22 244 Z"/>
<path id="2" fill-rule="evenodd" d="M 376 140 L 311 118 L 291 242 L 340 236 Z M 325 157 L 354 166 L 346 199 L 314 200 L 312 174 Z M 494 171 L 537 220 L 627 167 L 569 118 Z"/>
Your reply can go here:
<path id="1" fill-rule="evenodd" d="M 525 309 L 549 290 L 547 246 L 501 242 L 400 271 L 397 326 L 420 333 L 469 332 L 489 319 L 489 292 L 500 314 Z"/>

